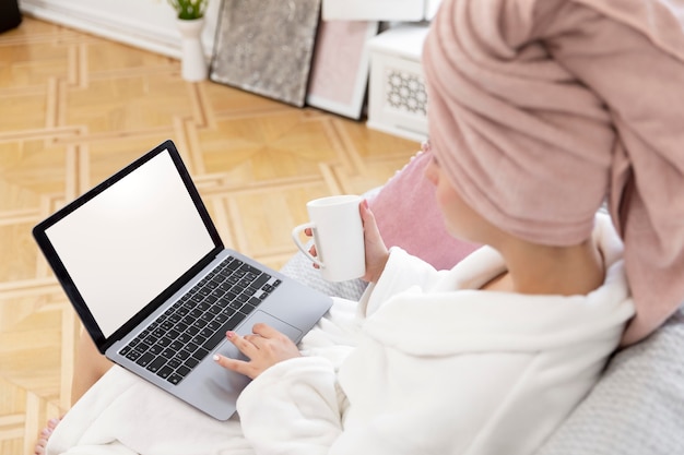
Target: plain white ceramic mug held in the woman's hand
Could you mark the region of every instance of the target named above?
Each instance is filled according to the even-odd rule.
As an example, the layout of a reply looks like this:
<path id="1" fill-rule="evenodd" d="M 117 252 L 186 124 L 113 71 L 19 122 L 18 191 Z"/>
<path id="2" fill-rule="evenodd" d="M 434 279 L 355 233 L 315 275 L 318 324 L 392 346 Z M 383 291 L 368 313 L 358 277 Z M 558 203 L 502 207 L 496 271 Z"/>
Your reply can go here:
<path id="1" fill-rule="evenodd" d="M 329 282 L 361 278 L 366 273 L 364 227 L 358 212 L 363 197 L 338 195 L 316 199 L 306 204 L 310 223 L 292 230 L 299 250 L 320 267 Z M 302 232 L 311 228 L 317 258 L 302 243 Z"/>

